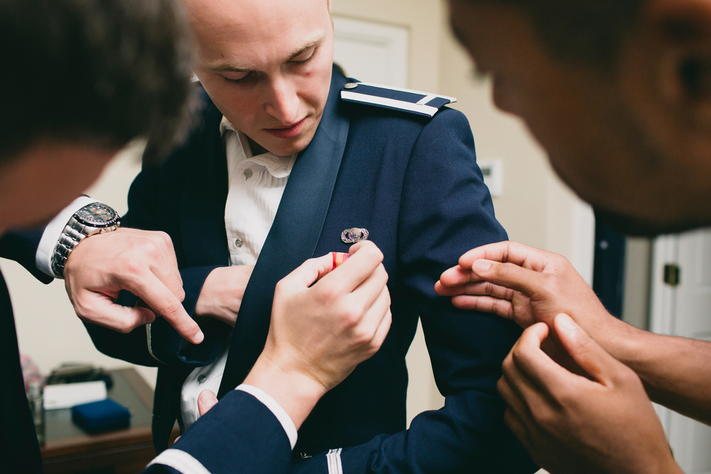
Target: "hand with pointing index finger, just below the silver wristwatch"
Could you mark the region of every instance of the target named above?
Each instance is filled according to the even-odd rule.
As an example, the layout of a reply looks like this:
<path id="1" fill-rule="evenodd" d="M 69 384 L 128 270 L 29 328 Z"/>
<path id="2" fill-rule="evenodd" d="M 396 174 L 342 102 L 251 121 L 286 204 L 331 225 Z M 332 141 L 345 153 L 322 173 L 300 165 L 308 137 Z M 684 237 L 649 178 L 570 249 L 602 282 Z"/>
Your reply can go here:
<path id="1" fill-rule="evenodd" d="M 191 343 L 203 341 L 200 327 L 181 304 L 183 280 L 173 242 L 164 232 L 119 228 L 83 239 L 69 255 L 64 277 L 82 321 L 129 333 L 161 316 Z M 121 290 L 145 305 L 117 305 Z"/>

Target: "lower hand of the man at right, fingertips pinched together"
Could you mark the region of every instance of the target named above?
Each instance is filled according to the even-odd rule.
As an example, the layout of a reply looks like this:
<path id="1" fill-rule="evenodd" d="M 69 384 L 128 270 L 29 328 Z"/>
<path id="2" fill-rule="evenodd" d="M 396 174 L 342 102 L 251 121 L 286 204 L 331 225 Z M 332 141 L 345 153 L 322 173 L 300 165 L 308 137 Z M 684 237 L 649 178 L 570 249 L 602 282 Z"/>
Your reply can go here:
<path id="1" fill-rule="evenodd" d="M 541 349 L 550 331 L 586 376 Z M 565 314 L 523 332 L 497 387 L 507 426 L 552 474 L 681 473 L 639 377 Z"/>

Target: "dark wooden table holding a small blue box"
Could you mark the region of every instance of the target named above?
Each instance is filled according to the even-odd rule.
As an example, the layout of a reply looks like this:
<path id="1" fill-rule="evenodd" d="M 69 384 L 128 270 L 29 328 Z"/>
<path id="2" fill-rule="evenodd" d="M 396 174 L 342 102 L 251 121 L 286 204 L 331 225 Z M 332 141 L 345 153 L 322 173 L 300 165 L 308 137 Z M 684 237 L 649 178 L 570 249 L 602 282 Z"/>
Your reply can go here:
<path id="1" fill-rule="evenodd" d="M 46 474 L 133 474 L 156 456 L 151 438 L 153 390 L 134 369 L 112 370 L 109 398 L 131 411 L 127 429 L 89 434 L 72 421 L 70 409 L 45 412 L 41 447 Z M 179 431 L 173 429 L 173 439 Z"/>

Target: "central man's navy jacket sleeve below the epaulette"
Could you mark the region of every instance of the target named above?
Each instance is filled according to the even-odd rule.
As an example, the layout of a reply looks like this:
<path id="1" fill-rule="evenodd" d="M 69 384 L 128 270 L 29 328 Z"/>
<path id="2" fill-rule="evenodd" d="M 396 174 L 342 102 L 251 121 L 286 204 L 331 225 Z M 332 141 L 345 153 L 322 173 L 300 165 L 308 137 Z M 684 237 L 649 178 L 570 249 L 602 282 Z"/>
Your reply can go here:
<path id="1" fill-rule="evenodd" d="M 497 316 L 460 311 L 434 293 L 464 252 L 506 240 L 476 166 L 463 114 L 444 109 L 417 139 L 399 213 L 398 288 L 417 306 L 445 405 L 413 419 L 410 429 L 343 448 L 343 472 L 533 473 L 537 468 L 503 424 L 496 392 L 501 363 L 520 335 Z M 296 465 L 328 473 L 326 454 Z M 331 454 L 333 456 L 333 454 Z M 335 471 L 333 471 L 335 472 Z"/>

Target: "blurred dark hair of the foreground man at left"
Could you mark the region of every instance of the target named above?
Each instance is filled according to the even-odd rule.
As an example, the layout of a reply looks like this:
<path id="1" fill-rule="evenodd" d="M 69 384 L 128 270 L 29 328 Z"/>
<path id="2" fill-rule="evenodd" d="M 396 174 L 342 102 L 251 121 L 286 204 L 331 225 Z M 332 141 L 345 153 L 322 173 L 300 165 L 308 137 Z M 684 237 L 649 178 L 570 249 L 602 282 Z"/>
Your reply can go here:
<path id="1" fill-rule="evenodd" d="M 186 127 L 188 31 L 172 0 L 0 0 L 0 160 L 46 138 L 166 153 Z"/>

